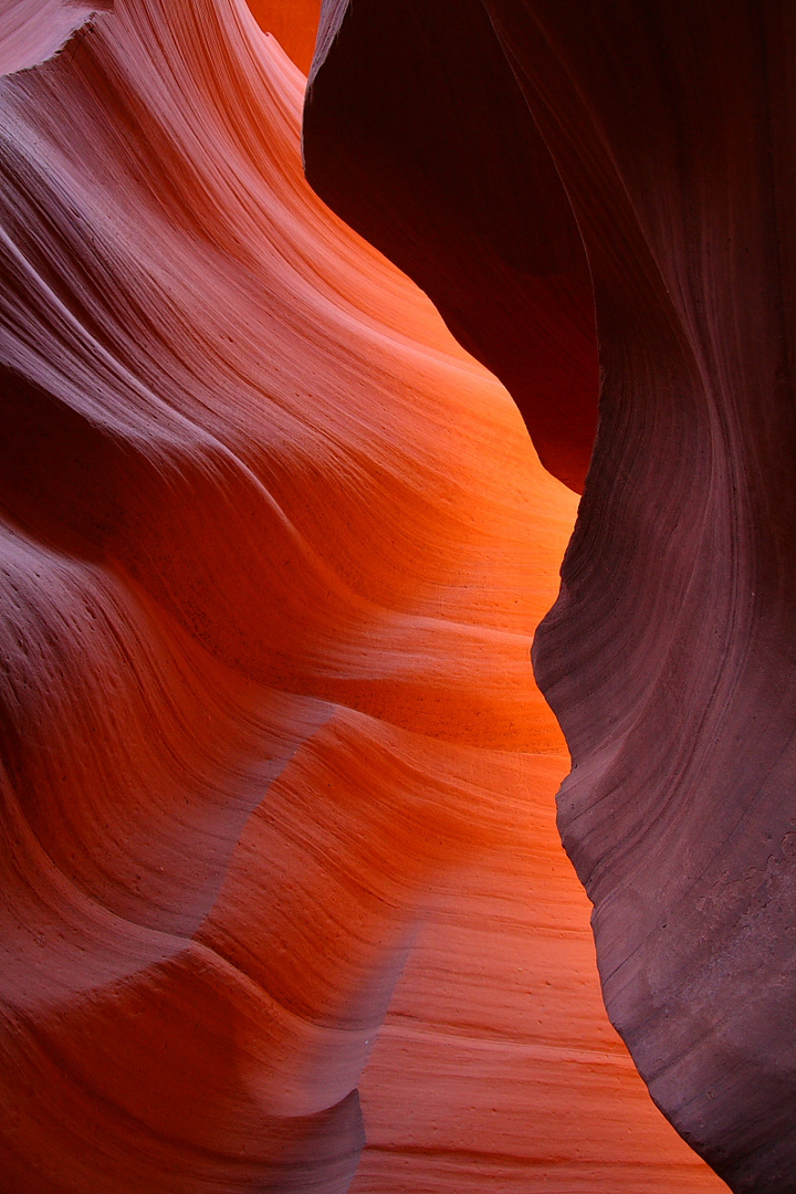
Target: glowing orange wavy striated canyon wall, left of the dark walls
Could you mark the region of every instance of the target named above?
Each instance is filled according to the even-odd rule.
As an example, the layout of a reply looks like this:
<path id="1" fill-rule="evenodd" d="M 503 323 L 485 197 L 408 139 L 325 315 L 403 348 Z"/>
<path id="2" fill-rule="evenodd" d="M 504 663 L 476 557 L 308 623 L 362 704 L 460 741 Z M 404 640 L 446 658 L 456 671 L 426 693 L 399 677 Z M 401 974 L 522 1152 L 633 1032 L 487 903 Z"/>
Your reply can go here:
<path id="1" fill-rule="evenodd" d="M 574 499 L 307 187 L 302 90 L 232 0 L 0 84 L 0 1189 L 717 1189 L 551 824 Z"/>

